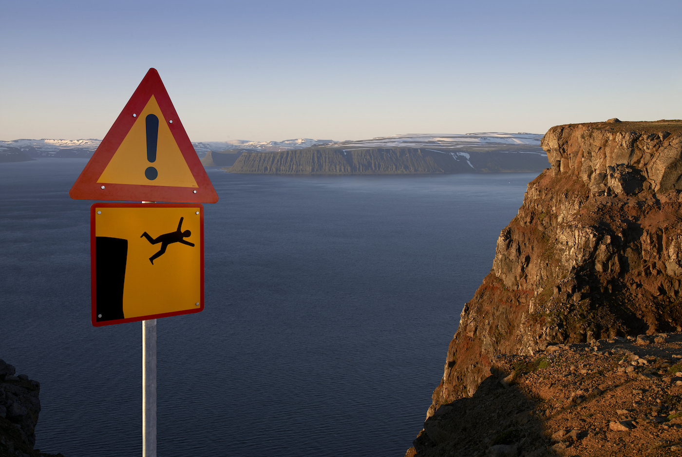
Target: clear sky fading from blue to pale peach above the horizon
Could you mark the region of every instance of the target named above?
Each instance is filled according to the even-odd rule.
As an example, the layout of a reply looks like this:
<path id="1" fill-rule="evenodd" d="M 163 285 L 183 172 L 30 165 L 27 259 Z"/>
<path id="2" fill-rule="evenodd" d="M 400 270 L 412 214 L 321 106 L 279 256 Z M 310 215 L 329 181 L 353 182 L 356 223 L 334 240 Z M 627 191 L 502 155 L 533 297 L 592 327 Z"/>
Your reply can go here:
<path id="1" fill-rule="evenodd" d="M 156 68 L 192 141 L 682 119 L 682 1 L 0 0 L 0 140 L 103 138 Z"/>

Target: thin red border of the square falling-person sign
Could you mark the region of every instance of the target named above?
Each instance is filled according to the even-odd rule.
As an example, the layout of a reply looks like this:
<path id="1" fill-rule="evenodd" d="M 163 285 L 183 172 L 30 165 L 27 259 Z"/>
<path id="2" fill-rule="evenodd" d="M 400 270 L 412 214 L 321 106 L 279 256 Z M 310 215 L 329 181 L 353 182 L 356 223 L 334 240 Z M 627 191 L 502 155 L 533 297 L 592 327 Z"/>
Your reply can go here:
<path id="1" fill-rule="evenodd" d="M 199 207 L 199 226 L 201 239 L 201 293 L 198 308 L 175 312 L 162 312 L 160 314 L 149 314 L 148 316 L 129 317 L 128 319 L 114 319 L 112 321 L 97 321 L 97 265 L 95 259 L 95 215 L 99 208 L 187 208 Z M 201 203 L 93 203 L 90 206 L 90 282 L 91 282 L 91 321 L 93 327 L 105 327 L 106 325 L 123 324 L 127 322 L 148 321 L 149 319 L 159 319 L 168 316 L 180 316 L 182 314 L 194 314 L 204 310 L 204 206 Z"/>

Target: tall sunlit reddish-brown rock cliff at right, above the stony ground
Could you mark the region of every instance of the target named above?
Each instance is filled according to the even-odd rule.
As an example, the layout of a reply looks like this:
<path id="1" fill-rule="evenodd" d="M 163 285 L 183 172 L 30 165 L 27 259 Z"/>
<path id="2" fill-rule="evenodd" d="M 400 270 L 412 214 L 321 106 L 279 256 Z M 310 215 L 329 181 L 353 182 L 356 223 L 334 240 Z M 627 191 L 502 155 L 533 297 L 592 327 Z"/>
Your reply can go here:
<path id="1" fill-rule="evenodd" d="M 428 416 L 502 353 L 682 330 L 682 121 L 551 128 L 490 274 L 460 316 Z"/>

